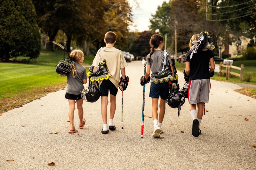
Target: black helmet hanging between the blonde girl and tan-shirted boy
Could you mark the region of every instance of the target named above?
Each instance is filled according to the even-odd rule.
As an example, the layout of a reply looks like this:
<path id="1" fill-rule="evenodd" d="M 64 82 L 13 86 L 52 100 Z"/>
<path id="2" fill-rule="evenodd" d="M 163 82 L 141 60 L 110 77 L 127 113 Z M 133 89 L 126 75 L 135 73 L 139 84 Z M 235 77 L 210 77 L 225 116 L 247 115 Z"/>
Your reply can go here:
<path id="1" fill-rule="evenodd" d="M 86 102 L 95 102 L 100 98 L 100 89 L 96 85 L 90 85 L 81 92 L 81 97 Z"/>

